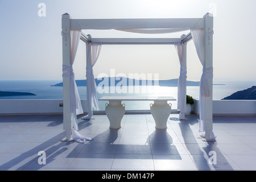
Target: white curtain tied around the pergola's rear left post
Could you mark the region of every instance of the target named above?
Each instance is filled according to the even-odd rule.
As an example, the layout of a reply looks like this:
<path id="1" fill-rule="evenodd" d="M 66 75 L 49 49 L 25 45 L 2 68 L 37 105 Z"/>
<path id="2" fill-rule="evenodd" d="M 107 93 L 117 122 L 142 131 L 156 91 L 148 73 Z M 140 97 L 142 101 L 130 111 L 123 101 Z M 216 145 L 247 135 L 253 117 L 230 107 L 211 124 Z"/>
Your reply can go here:
<path id="1" fill-rule="evenodd" d="M 101 52 L 101 43 L 89 43 L 89 48 L 87 52 L 87 64 L 86 64 L 86 79 L 88 79 L 89 85 L 86 85 L 89 87 L 89 93 L 88 94 L 88 115 L 83 117 L 82 119 L 90 119 L 92 117 L 94 110 L 100 110 L 100 106 L 98 105 L 98 98 L 97 98 L 97 85 L 95 82 L 95 78 L 93 75 L 93 66 L 98 60 L 98 56 L 100 56 Z M 89 55 L 90 54 L 90 55 Z"/>

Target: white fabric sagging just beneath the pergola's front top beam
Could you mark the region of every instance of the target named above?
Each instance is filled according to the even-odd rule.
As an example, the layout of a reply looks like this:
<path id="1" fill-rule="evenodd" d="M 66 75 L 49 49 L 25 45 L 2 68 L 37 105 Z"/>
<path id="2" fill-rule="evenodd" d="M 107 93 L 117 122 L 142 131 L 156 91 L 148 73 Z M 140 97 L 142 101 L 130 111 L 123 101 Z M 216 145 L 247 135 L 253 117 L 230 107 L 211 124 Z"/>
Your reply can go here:
<path id="1" fill-rule="evenodd" d="M 143 29 L 143 28 L 123 28 L 123 29 L 115 29 L 119 31 L 125 31 L 125 32 L 133 32 L 133 33 L 139 33 L 139 34 L 168 34 L 168 33 L 173 33 L 173 32 L 180 32 L 180 31 L 185 31 L 189 30 L 189 28 L 148 28 L 148 29 Z"/>

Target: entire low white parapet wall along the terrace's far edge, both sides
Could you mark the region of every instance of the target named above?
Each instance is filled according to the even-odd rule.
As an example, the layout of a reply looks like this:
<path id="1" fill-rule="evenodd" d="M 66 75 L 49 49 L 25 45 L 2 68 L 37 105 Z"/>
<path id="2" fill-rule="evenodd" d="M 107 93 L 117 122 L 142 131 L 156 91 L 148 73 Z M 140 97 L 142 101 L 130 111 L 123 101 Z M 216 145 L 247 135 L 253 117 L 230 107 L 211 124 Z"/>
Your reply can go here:
<path id="1" fill-rule="evenodd" d="M 0 115 L 63 114 L 63 100 L 0 100 Z M 86 100 L 81 100 L 86 113 Z M 195 99 L 193 113 L 199 115 L 199 100 Z M 94 112 L 104 114 L 104 111 Z M 131 113 L 149 114 L 148 110 Z M 174 111 L 172 111 L 174 113 Z M 213 115 L 256 115 L 256 100 L 216 100 L 213 101 Z"/>

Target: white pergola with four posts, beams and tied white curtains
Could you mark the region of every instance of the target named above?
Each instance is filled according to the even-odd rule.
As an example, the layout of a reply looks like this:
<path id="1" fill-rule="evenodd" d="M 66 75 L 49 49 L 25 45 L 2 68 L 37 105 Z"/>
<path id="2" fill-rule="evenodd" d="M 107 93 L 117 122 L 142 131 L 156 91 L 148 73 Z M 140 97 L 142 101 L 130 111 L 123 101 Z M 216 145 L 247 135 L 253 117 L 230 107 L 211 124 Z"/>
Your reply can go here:
<path id="1" fill-rule="evenodd" d="M 180 38 L 92 38 L 81 30 L 121 30 L 146 34 L 159 34 L 190 30 Z M 79 41 L 86 43 L 86 92 L 88 115 L 97 110 L 96 88 L 93 65 L 97 61 L 101 45 L 104 44 L 174 44 L 180 61 L 178 84 L 179 119 L 185 117 L 186 80 L 187 80 L 187 43 L 193 39 L 197 55 L 203 65 L 200 81 L 200 131 L 205 131 L 206 141 L 215 139 L 212 118 L 213 83 L 213 16 L 205 14 L 203 18 L 167 18 L 167 19 L 71 19 L 69 14 L 62 15 L 63 35 L 63 129 L 67 131 L 65 141 L 90 140 L 78 132 L 77 115 L 84 113 L 77 92 L 72 64 L 75 60 Z"/>

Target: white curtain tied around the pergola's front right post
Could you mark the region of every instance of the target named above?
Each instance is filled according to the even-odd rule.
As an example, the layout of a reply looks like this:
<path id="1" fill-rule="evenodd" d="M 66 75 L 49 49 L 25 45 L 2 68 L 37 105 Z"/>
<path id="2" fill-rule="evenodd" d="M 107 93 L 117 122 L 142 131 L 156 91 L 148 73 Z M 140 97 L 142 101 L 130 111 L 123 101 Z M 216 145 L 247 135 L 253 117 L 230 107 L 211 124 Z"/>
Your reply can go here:
<path id="1" fill-rule="evenodd" d="M 191 35 L 193 38 L 193 42 L 196 47 L 197 55 L 199 56 L 199 60 L 203 65 L 203 74 L 200 80 L 200 93 L 199 93 L 199 114 L 200 114 L 200 132 L 205 131 L 205 97 L 211 96 L 210 93 L 210 84 L 209 80 L 213 78 L 213 68 L 206 68 L 205 67 L 205 40 L 204 40 L 204 29 L 199 28 L 192 28 Z M 213 131 L 210 132 L 210 138 L 216 138 Z"/>

